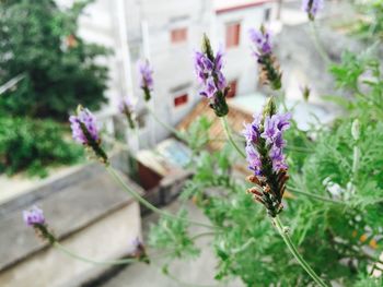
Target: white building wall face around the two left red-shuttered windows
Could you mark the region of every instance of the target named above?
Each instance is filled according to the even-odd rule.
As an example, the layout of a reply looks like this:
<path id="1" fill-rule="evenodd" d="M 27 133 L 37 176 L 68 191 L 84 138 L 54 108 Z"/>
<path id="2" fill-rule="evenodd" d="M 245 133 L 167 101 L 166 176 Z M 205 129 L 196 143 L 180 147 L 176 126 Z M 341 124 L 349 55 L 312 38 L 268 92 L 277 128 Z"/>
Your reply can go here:
<path id="1" fill-rule="evenodd" d="M 129 20 L 135 27 L 147 23 L 148 44 L 142 46 L 142 31 L 129 28 L 129 39 L 141 41 L 131 44 L 130 47 L 139 47 L 135 51 L 135 94 L 142 98 L 142 92 L 138 87 L 137 60 L 149 58 L 154 69 L 154 94 L 151 100 L 152 108 L 161 120 L 167 124 L 175 125 L 179 122 L 199 100 L 193 63 L 193 51 L 199 49 L 202 34 L 211 24 L 211 1 L 209 0 L 128 0 L 130 8 L 128 14 L 139 14 Z M 136 12 L 137 11 L 137 12 Z M 139 23 L 141 22 L 141 23 Z M 173 28 L 187 28 L 185 43 L 172 43 L 171 31 Z M 141 26 L 142 29 L 142 26 Z M 136 48 L 137 49 L 137 48 Z M 144 51 L 148 52 L 144 52 Z M 174 107 L 174 97 L 184 93 L 188 94 L 185 105 Z M 154 122 L 150 115 L 147 117 L 151 129 L 150 136 L 154 142 L 165 139 L 169 131 L 161 124 Z"/>

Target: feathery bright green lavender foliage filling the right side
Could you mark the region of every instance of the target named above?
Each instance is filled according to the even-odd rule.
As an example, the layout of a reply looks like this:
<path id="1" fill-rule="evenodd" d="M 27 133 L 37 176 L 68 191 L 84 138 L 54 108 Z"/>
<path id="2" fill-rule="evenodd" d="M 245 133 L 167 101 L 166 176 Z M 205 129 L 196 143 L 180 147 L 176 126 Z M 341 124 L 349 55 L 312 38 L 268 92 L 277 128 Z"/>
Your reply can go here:
<path id="1" fill-rule="evenodd" d="M 350 94 L 332 100 L 347 113 L 309 132 L 292 122 L 286 133 L 291 178 L 281 217 L 311 267 L 340 286 L 381 286 L 381 280 L 369 277 L 369 267 L 383 251 L 380 70 L 373 49 L 358 56 L 346 52 L 332 72 L 338 87 Z M 247 286 L 311 286 L 265 208 L 246 194 L 249 186 L 233 169 L 233 150 L 200 150 L 196 155 L 195 174 L 182 199 L 192 199 L 217 228 L 211 242 L 218 260 L 216 279 L 240 277 Z"/>

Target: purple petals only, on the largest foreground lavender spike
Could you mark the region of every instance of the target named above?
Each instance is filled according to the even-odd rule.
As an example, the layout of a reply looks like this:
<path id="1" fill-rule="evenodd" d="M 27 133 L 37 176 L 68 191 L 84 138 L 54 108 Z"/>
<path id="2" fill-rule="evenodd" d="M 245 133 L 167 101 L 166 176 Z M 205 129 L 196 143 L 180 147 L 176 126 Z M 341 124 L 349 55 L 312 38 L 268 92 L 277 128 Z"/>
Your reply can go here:
<path id="1" fill-rule="evenodd" d="M 254 117 L 252 123 L 246 123 L 243 135 L 246 139 L 246 155 L 248 168 L 259 176 L 263 174 L 263 163 L 259 145 L 260 141 L 265 141 L 265 147 L 268 151 L 267 156 L 272 164 L 272 170 L 279 172 L 287 169 L 286 158 L 283 155 L 283 147 L 286 141 L 283 140 L 283 132 L 290 128 L 290 113 L 272 115 L 264 118 L 262 124 L 260 115 Z"/>

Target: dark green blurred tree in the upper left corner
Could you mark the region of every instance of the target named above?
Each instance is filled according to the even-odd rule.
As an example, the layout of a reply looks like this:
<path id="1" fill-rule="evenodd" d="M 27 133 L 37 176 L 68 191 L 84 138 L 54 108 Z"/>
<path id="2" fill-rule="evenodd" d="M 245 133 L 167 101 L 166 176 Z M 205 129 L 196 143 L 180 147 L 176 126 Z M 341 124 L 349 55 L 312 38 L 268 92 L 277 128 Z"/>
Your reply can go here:
<path id="1" fill-rule="evenodd" d="M 77 36 L 88 2 L 68 10 L 53 0 L 0 2 L 0 82 L 23 75 L 0 97 L 0 113 L 67 120 L 79 103 L 93 109 L 105 101 L 107 69 L 94 60 L 106 50 Z"/>

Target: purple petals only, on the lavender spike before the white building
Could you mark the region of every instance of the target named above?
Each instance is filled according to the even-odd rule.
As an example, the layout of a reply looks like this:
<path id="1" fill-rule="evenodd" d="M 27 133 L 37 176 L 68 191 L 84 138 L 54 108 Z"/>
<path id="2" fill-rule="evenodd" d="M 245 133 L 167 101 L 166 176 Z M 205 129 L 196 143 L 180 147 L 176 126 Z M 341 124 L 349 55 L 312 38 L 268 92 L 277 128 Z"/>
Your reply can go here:
<path id="1" fill-rule="evenodd" d="M 223 52 L 219 50 L 214 59 L 200 51 L 195 52 L 195 70 L 198 81 L 204 85 L 199 93 L 207 98 L 213 98 L 218 91 L 227 87 L 227 80 L 222 73 Z"/>

